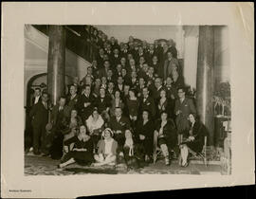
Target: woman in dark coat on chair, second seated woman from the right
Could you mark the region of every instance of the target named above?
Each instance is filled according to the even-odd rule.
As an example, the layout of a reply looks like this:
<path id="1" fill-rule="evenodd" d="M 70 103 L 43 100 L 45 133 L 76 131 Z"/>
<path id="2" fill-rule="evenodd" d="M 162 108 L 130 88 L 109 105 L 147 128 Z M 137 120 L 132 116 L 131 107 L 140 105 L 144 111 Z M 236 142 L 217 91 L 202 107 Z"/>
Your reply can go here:
<path id="1" fill-rule="evenodd" d="M 165 157 L 165 164 L 170 164 L 170 152 L 174 150 L 176 145 L 176 130 L 173 119 L 168 119 L 166 111 L 161 113 L 161 118 L 155 125 L 155 139 L 161 148 L 162 154 Z"/>

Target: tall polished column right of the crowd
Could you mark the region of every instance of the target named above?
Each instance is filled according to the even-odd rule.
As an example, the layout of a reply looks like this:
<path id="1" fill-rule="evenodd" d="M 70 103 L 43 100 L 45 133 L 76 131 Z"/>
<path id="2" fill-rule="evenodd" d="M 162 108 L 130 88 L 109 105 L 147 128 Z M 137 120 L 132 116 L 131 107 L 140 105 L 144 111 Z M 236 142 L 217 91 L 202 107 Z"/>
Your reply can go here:
<path id="1" fill-rule="evenodd" d="M 201 121 L 209 130 L 209 145 L 213 146 L 214 116 L 212 104 L 214 68 L 214 31 L 211 26 L 199 27 L 196 75 L 196 106 Z"/>

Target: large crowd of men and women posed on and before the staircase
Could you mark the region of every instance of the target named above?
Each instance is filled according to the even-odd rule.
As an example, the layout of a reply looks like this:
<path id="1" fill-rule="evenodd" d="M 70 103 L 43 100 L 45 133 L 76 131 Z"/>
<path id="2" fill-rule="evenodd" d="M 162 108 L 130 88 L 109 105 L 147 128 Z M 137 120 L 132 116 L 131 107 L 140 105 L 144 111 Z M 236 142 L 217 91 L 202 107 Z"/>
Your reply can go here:
<path id="1" fill-rule="evenodd" d="M 156 139 L 166 165 L 179 154 L 179 164 L 188 166 L 207 131 L 186 97 L 174 42 L 148 45 L 129 37 L 118 44 L 111 37 L 100 46 L 85 77 L 69 85 L 56 105 L 49 107 L 48 94 L 35 90 L 33 153 L 61 159 L 61 168 L 122 159 L 140 167 L 152 161 Z"/>

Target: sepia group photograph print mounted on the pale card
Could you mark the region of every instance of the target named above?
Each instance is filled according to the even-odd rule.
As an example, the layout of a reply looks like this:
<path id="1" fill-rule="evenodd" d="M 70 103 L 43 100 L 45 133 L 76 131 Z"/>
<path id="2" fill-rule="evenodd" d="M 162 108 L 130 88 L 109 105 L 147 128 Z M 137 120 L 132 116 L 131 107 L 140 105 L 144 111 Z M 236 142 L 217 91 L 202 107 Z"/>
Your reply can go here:
<path id="1" fill-rule="evenodd" d="M 228 26 L 24 31 L 26 175 L 231 173 Z"/>

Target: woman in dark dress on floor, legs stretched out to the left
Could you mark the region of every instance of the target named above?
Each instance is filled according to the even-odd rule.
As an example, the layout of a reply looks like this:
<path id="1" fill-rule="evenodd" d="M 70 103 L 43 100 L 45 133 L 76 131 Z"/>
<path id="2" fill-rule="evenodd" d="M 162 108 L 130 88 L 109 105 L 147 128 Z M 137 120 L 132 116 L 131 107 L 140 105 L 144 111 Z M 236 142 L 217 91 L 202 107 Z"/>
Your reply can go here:
<path id="1" fill-rule="evenodd" d="M 87 135 L 86 127 L 80 126 L 77 136 L 73 136 L 64 141 L 64 145 L 68 146 L 75 143 L 72 151 L 64 155 L 62 163 L 58 168 L 63 168 L 69 164 L 77 162 L 80 165 L 90 165 L 93 162 L 93 142 L 90 136 Z"/>

